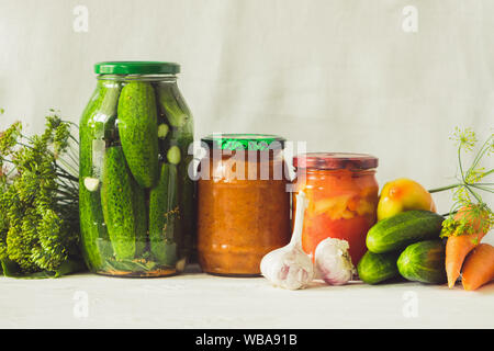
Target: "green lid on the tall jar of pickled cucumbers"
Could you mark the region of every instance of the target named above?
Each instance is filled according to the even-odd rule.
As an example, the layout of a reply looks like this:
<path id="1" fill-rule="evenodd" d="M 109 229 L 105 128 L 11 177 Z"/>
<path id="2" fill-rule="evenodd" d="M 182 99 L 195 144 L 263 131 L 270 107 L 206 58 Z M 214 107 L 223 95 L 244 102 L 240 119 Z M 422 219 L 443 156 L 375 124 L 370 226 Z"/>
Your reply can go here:
<path id="1" fill-rule="evenodd" d="M 180 65 L 161 61 L 105 61 L 94 65 L 97 75 L 176 75 Z"/>

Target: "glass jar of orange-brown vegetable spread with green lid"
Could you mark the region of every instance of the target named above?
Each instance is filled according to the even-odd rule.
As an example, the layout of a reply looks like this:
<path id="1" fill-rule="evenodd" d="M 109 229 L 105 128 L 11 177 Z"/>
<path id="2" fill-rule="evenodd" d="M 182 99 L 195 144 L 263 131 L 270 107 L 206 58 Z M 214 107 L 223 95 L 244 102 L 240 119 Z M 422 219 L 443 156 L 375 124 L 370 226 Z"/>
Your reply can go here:
<path id="1" fill-rule="evenodd" d="M 260 274 L 262 257 L 290 240 L 290 193 L 284 139 L 223 134 L 207 149 L 198 180 L 198 251 L 203 271 Z"/>

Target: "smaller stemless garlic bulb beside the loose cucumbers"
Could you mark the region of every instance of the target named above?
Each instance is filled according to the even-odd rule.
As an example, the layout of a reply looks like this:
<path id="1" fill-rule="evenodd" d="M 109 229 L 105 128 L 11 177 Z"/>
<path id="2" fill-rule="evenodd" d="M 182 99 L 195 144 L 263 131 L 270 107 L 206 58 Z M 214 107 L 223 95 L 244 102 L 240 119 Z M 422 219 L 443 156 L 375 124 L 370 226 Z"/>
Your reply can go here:
<path id="1" fill-rule="evenodd" d="M 316 276 L 329 285 L 344 285 L 355 273 L 347 240 L 327 238 L 315 249 Z"/>

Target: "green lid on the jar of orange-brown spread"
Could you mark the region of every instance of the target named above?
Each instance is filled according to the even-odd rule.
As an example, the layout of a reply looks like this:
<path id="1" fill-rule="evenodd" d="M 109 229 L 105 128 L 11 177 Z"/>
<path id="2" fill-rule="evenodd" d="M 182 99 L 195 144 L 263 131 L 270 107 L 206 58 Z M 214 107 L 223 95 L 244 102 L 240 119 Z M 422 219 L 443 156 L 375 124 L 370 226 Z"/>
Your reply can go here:
<path id="1" fill-rule="evenodd" d="M 211 134 L 201 140 L 216 149 L 250 151 L 282 149 L 285 141 L 281 136 L 271 134 Z"/>

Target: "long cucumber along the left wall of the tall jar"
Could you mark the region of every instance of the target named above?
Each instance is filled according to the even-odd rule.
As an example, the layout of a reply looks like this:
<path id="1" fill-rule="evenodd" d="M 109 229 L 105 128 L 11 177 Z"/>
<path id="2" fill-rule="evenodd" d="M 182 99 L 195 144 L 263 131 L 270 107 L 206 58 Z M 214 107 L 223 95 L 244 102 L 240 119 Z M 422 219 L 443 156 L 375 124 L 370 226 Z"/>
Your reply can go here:
<path id="1" fill-rule="evenodd" d="M 99 191 L 86 188 L 85 179 L 93 174 L 93 143 L 101 138 L 100 131 L 105 129 L 116 112 L 121 87 L 113 81 L 98 81 L 97 90 L 82 113 L 79 123 L 79 216 L 81 230 L 81 248 L 86 264 L 93 271 L 102 268 L 106 257 L 113 250 L 106 246 L 109 235 L 104 226 L 103 210 Z M 112 107 L 113 106 L 113 107 Z M 101 127 L 104 124 L 104 127 Z M 110 123 L 108 123 L 110 124 Z"/>

